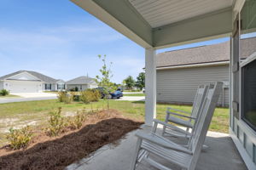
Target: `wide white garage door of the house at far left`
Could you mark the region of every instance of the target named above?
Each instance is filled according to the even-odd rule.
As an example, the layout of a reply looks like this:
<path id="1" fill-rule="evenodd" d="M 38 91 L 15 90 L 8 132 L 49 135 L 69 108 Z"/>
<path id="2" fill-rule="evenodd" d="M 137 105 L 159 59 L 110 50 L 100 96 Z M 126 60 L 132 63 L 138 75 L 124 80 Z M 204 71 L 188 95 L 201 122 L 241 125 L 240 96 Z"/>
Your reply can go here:
<path id="1" fill-rule="evenodd" d="M 10 93 L 37 93 L 42 91 L 42 85 L 39 82 L 9 82 L 8 89 Z"/>

